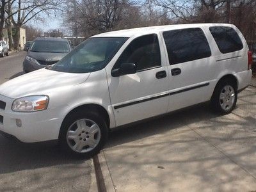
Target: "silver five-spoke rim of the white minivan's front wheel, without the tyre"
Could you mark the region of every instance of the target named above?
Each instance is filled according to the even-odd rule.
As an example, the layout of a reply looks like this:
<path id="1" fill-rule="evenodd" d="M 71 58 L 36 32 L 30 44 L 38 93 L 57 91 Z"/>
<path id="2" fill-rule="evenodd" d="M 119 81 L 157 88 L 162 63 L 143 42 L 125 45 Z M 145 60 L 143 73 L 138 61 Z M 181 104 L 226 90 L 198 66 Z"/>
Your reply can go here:
<path id="1" fill-rule="evenodd" d="M 99 141 L 100 128 L 93 120 L 80 119 L 68 127 L 67 143 L 75 152 L 89 152 L 99 144 Z"/>

